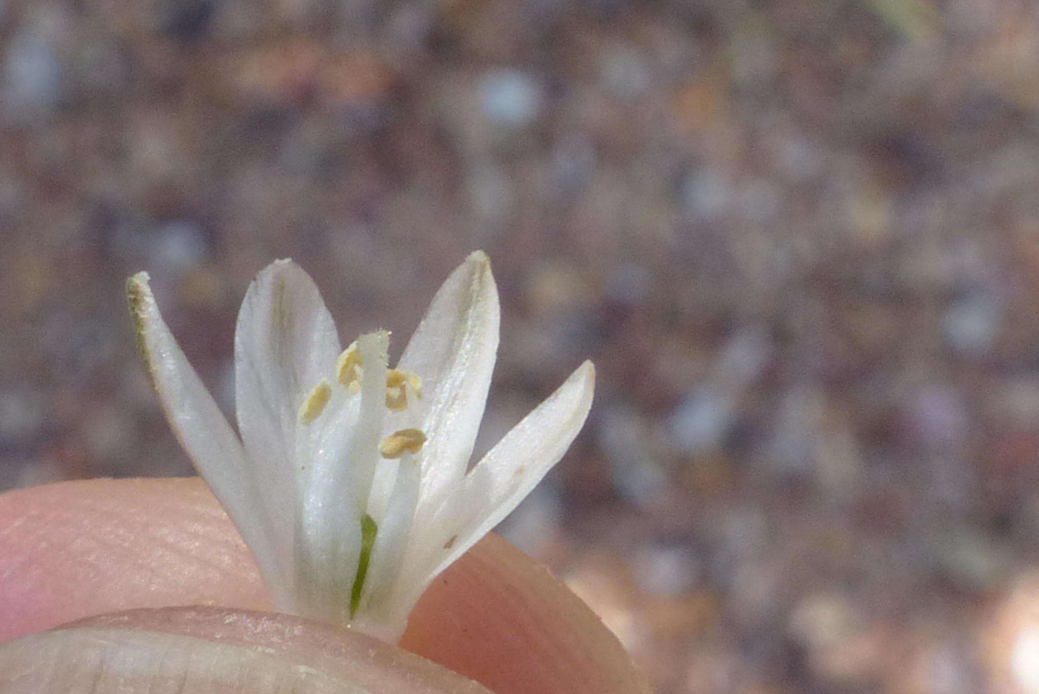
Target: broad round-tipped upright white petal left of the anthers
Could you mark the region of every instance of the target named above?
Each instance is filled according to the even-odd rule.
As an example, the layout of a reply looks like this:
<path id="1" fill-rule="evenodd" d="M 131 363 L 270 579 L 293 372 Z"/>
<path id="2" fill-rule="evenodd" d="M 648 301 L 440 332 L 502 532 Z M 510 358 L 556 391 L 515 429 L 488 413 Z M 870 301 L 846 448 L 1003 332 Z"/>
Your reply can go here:
<path id="1" fill-rule="evenodd" d="M 299 423 L 299 406 L 331 374 L 338 354 L 336 326 L 314 281 L 291 261 L 268 265 L 249 285 L 238 313 L 235 401 L 264 502 L 292 496 L 293 503 L 272 509 L 282 539 L 290 544 L 301 493 L 296 477 L 303 472 L 297 450 L 309 451 L 312 431 L 322 431 Z"/>

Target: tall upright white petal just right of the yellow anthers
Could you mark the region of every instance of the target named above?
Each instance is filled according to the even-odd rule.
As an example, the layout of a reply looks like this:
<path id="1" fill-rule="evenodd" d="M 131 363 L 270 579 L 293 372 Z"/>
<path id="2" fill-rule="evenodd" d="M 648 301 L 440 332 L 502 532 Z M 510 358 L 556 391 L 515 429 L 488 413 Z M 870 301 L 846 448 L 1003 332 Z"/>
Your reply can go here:
<path id="1" fill-rule="evenodd" d="M 400 358 L 400 369 L 422 379 L 416 406 L 428 442 L 419 456 L 420 509 L 443 504 L 465 474 L 490 386 L 499 321 L 490 263 L 476 251 L 436 292 Z M 388 418 L 390 429 L 396 427 L 393 419 Z"/>

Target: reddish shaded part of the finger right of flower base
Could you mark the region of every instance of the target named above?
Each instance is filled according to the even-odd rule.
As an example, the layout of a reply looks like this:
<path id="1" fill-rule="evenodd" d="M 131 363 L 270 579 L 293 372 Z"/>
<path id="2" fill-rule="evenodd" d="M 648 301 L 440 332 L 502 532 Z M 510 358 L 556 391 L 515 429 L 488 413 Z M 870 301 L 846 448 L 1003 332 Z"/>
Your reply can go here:
<path id="1" fill-rule="evenodd" d="M 588 606 L 494 533 L 433 582 L 401 646 L 498 694 L 649 692 Z"/>

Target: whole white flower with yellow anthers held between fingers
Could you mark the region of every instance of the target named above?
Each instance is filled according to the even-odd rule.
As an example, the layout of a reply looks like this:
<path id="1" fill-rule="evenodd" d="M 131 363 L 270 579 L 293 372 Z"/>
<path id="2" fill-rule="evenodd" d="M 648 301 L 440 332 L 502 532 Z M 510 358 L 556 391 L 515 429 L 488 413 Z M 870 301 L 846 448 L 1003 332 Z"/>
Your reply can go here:
<path id="1" fill-rule="evenodd" d="M 498 290 L 471 255 L 436 293 L 396 369 L 389 333 L 341 351 L 311 277 L 276 261 L 235 332 L 241 438 L 140 272 L 137 344 L 166 419 L 252 551 L 279 610 L 396 642 L 426 586 L 562 457 L 591 405 L 585 362 L 469 470 L 498 350 Z"/>

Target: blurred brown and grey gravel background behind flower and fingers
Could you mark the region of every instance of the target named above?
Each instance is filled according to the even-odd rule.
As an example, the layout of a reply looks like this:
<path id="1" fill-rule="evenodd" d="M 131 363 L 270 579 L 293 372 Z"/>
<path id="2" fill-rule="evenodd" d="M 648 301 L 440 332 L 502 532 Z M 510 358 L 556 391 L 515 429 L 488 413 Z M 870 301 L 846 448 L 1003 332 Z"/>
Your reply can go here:
<path id="1" fill-rule="evenodd" d="M 661 694 L 1039 692 L 1030 0 L 0 0 L 0 488 L 187 475 L 292 257 L 393 354 L 474 248 L 478 453 L 583 358 L 502 531 Z"/>

